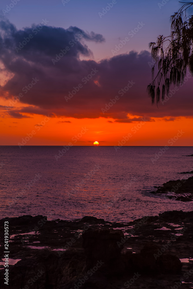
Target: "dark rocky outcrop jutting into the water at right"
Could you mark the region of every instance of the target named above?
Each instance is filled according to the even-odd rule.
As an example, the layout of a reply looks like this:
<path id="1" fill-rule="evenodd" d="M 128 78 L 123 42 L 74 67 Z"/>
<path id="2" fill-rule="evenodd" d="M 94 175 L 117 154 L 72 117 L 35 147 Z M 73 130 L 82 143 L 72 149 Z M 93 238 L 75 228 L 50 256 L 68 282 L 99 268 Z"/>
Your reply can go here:
<path id="1" fill-rule="evenodd" d="M 152 194 L 168 194 L 169 198 L 177 201 L 190 202 L 193 201 L 193 176 L 188 179 L 168 181 L 163 186 L 158 187 Z M 169 194 L 173 193 L 173 194 Z"/>

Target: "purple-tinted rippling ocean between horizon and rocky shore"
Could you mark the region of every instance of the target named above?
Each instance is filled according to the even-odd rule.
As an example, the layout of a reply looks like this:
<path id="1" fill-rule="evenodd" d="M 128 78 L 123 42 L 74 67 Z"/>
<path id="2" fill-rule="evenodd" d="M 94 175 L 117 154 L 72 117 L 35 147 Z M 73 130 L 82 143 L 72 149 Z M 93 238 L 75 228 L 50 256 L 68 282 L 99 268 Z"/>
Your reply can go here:
<path id="1" fill-rule="evenodd" d="M 128 222 L 167 210 L 193 210 L 193 202 L 155 196 L 166 181 L 187 179 L 192 147 L 0 147 L 0 215 L 45 215 L 74 220 L 95 216 Z M 156 161 L 155 154 L 161 155 Z"/>

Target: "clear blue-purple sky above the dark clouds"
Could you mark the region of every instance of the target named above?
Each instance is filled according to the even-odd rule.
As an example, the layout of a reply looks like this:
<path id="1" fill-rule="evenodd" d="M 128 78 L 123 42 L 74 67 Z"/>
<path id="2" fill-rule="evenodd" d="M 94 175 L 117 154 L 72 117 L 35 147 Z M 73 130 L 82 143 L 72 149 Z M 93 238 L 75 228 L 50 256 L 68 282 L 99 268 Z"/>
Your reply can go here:
<path id="1" fill-rule="evenodd" d="M 6 13 L 10 22 L 18 29 L 35 25 L 47 19 L 48 25 L 54 27 L 77 26 L 84 31 L 94 31 L 102 34 L 106 41 L 100 45 L 89 43 L 95 60 L 112 57 L 111 50 L 128 36 L 128 32 L 137 27 L 138 22 L 145 25 L 119 53 L 131 50 L 141 51 L 148 49 L 148 43 L 156 39 L 159 34 L 168 34 L 170 31 L 169 17 L 180 7 L 176 0 L 117 0 L 117 3 L 100 18 L 103 7 L 112 1 L 103 0 L 70 0 L 63 5 L 60 0 L 20 0 Z M 163 2 L 163 3 L 164 3 Z M 0 11 L 6 9 L 11 0 L 1 0 Z M 117 53 L 118 54 L 118 53 Z"/>

